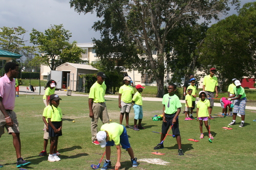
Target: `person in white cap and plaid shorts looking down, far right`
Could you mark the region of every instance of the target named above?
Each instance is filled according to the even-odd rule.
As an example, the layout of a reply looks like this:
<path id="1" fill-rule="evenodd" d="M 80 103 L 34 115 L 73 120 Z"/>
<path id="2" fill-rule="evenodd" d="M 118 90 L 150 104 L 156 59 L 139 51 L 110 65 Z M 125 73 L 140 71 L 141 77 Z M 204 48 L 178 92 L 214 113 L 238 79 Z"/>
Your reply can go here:
<path id="1" fill-rule="evenodd" d="M 246 94 L 244 88 L 241 86 L 239 80 L 234 81 L 234 94 L 229 96 L 227 99 L 230 101 L 234 100 L 234 109 L 233 109 L 233 119 L 232 122 L 228 125 L 236 125 L 236 118 L 238 112 L 241 114 L 241 124 L 240 128 L 244 127 L 244 119 L 245 119 L 245 106 L 246 106 Z"/>

